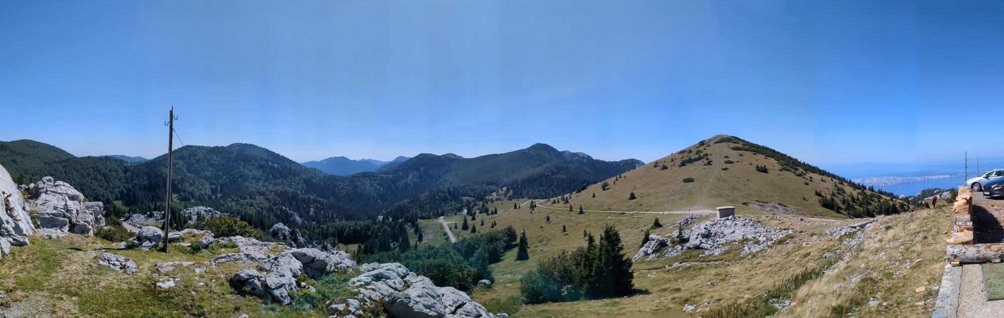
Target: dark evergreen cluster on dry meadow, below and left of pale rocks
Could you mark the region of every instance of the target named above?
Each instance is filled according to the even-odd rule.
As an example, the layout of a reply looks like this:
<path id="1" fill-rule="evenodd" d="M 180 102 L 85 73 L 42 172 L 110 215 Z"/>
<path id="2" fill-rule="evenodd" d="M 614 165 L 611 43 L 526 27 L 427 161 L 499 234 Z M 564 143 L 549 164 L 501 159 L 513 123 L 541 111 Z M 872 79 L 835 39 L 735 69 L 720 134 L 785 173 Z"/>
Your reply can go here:
<path id="1" fill-rule="evenodd" d="M 540 262 L 520 279 L 520 295 L 528 304 L 601 299 L 635 290 L 632 261 L 624 257 L 620 234 L 607 226 L 595 238 L 584 233 L 585 247 Z"/>

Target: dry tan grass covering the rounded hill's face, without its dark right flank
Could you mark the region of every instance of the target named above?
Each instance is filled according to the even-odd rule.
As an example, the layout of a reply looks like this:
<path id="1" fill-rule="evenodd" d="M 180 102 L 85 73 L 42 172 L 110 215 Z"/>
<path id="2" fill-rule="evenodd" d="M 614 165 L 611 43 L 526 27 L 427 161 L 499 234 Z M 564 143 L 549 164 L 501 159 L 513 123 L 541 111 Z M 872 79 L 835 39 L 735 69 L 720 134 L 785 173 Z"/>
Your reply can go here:
<path id="1" fill-rule="evenodd" d="M 573 194 L 570 203 L 575 209 L 581 205 L 585 210 L 595 211 L 689 211 L 734 206 L 737 211 L 752 214 L 757 211 L 743 206 L 743 203 L 760 201 L 782 203 L 815 217 L 846 218 L 819 206 L 815 191 L 829 194 L 835 189 L 829 178 L 815 174 L 798 177 L 794 172 L 781 171 L 781 167 L 772 158 L 749 151 L 733 150 L 730 148 L 733 145 L 736 144 L 695 144 L 684 149 L 685 153 L 674 153 L 656 161 L 660 163 L 659 167 L 650 163 L 624 173 L 619 179 L 615 177 L 606 180 L 610 185 L 606 191 L 600 190 L 600 185 L 597 184 L 579 194 Z M 693 152 L 686 153 L 686 150 Z M 710 153 L 711 166 L 704 166 L 705 162 L 702 161 L 678 167 L 688 155 L 697 156 L 698 150 Z M 725 164 L 726 161 L 733 164 Z M 669 168 L 662 170 L 663 164 Z M 766 166 L 768 173 L 757 172 L 756 166 Z M 728 170 L 723 171 L 722 168 Z M 684 183 L 685 178 L 693 178 L 695 182 Z M 845 185 L 836 187 L 852 191 Z M 633 192 L 638 199 L 629 201 Z M 592 198 L 593 194 L 596 198 Z M 548 202 L 544 205 L 564 209 L 568 207 L 561 202 L 555 205 Z"/>

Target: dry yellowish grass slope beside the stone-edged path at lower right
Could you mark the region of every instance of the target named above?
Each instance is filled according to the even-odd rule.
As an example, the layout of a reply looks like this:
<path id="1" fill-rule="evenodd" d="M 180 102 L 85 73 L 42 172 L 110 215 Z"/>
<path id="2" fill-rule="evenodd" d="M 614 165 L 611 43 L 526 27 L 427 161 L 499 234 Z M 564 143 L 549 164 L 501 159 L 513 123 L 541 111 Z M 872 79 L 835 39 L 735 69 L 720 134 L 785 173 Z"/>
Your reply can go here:
<path id="1" fill-rule="evenodd" d="M 845 263 L 802 287 L 795 305 L 781 317 L 930 316 L 945 267 L 945 233 L 951 214 L 944 209 L 883 218 L 866 230 L 867 239 L 849 250 Z M 918 262 L 919 261 L 919 262 Z M 852 279 L 860 282 L 849 287 Z M 918 287 L 925 292 L 915 293 Z M 871 299 L 886 306 L 871 307 Z M 923 305 L 916 303 L 923 302 Z"/>

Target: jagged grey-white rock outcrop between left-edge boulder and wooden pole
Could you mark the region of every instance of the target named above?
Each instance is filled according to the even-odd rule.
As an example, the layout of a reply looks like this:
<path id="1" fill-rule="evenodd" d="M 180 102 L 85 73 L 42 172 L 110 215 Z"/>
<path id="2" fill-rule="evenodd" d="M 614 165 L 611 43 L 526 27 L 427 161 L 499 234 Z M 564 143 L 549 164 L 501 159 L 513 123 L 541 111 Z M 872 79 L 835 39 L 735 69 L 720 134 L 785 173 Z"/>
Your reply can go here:
<path id="1" fill-rule="evenodd" d="M 93 235 L 95 227 L 104 226 L 104 205 L 83 202 L 83 195 L 69 184 L 45 177 L 28 186 L 27 193 L 31 201 L 26 210 L 35 213 L 40 228 Z"/>

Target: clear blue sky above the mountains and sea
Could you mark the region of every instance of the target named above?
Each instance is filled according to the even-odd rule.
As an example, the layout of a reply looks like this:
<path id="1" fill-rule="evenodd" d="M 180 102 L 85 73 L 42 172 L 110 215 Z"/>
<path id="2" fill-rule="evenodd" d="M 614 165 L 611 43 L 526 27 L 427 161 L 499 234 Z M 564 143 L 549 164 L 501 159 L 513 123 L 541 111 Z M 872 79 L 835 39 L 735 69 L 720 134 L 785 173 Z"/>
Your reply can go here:
<path id="1" fill-rule="evenodd" d="M 1004 155 L 962 135 L 1000 139 L 1002 16 L 993 1 L 2 1 L 0 140 L 155 156 L 174 105 L 185 144 L 298 162 L 534 142 L 649 162 L 716 133 L 818 165 Z"/>

